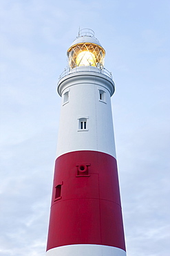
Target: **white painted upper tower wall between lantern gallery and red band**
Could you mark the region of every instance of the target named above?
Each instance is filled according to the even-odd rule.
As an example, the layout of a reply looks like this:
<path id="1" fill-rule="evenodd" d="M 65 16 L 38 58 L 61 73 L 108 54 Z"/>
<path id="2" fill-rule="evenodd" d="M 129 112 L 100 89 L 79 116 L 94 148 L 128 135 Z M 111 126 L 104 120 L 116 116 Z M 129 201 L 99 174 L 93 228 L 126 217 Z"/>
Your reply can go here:
<path id="1" fill-rule="evenodd" d="M 105 91 L 105 102 L 99 100 L 99 89 Z M 57 157 L 67 152 L 94 150 L 116 158 L 110 100 L 114 82 L 100 73 L 78 72 L 63 77 L 58 91 L 62 104 Z M 69 101 L 63 104 L 65 91 L 69 91 Z M 88 131 L 78 131 L 78 118 L 88 118 Z"/>

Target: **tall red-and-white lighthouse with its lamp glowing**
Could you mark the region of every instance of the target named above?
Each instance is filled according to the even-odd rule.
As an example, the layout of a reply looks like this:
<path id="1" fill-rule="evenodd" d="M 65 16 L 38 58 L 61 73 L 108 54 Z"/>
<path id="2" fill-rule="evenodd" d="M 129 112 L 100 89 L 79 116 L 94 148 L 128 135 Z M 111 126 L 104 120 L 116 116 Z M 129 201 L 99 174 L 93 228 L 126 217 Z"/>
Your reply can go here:
<path id="1" fill-rule="evenodd" d="M 105 49 L 83 29 L 67 57 L 46 255 L 125 256 Z"/>

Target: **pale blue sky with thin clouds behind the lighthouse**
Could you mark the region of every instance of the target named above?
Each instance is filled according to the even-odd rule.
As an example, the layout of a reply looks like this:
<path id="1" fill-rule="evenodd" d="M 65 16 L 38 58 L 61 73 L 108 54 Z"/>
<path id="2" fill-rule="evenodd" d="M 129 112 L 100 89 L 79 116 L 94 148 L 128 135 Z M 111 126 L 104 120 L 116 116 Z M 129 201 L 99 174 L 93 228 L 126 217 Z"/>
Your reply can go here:
<path id="1" fill-rule="evenodd" d="M 1 0 L 1 256 L 45 255 L 61 99 L 78 27 L 112 72 L 127 256 L 169 256 L 169 0 Z"/>

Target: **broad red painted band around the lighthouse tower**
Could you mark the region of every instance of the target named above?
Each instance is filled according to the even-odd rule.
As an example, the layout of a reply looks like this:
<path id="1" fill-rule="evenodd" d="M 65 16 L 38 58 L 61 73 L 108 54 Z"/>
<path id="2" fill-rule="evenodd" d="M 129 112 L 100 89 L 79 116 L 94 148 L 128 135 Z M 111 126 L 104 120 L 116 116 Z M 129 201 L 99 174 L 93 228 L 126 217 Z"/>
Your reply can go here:
<path id="1" fill-rule="evenodd" d="M 56 193 L 57 185 L 61 194 Z M 69 244 L 101 244 L 125 250 L 113 156 L 78 151 L 56 159 L 47 250 Z"/>

